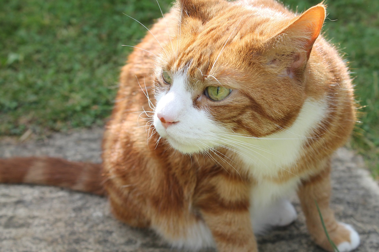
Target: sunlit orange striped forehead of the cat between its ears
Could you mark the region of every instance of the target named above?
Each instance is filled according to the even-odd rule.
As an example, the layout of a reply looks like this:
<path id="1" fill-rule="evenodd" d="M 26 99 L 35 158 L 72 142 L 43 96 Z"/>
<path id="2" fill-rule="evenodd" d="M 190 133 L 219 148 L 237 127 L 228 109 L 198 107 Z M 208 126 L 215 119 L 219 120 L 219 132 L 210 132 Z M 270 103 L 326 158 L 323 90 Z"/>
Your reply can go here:
<path id="1" fill-rule="evenodd" d="M 207 22 L 196 18 L 180 22 L 177 36 L 166 46 L 166 68 L 174 72 L 188 68 L 189 74 L 200 78 L 221 72 L 236 74 L 242 65 L 264 60 L 260 56 L 265 41 L 280 27 L 273 24 L 270 13 L 238 8 L 242 9 L 240 16 L 226 11 Z"/>

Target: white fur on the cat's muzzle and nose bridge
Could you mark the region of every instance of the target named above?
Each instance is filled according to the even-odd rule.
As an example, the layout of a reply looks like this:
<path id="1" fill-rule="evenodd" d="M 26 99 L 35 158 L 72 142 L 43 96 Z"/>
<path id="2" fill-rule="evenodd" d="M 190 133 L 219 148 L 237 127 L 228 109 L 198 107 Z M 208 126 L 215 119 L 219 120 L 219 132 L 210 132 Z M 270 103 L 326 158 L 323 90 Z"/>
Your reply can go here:
<path id="1" fill-rule="evenodd" d="M 222 131 L 204 110 L 193 107 L 191 93 L 186 90 L 185 73 L 173 76 L 168 93 L 157 96 L 154 126 L 161 137 L 183 153 L 194 153 L 215 146 L 217 132 Z M 177 123 L 163 127 L 157 114 L 174 118 Z"/>

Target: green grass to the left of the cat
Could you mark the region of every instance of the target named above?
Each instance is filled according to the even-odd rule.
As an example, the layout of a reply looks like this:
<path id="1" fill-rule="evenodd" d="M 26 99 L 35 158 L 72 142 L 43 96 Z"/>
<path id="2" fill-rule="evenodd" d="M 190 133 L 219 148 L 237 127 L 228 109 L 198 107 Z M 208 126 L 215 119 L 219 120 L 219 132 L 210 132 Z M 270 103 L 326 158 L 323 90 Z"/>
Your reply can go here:
<path id="1" fill-rule="evenodd" d="M 169 1 L 162 1 L 168 9 Z M 120 67 L 155 0 L 6 0 L 0 9 L 0 135 L 102 125 Z"/>

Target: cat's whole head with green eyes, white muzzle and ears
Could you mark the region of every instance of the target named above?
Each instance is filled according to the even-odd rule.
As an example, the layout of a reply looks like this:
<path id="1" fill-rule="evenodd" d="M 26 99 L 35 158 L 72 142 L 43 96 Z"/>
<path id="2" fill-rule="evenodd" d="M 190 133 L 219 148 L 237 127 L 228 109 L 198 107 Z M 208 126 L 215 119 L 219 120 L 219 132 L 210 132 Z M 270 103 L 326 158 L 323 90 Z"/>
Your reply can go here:
<path id="1" fill-rule="evenodd" d="M 296 120 L 324 6 L 294 16 L 222 0 L 181 0 L 176 11 L 153 76 L 154 126 L 172 147 L 207 151 L 230 145 L 232 134 L 265 137 Z"/>

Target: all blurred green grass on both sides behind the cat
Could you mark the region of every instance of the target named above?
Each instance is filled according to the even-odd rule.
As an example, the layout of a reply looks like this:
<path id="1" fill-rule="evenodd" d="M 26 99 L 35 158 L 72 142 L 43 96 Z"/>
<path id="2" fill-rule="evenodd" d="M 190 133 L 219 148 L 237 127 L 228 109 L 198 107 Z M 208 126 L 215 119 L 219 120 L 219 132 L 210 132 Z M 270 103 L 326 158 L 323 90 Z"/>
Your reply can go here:
<path id="1" fill-rule="evenodd" d="M 172 0 L 159 0 L 167 11 Z M 285 0 L 304 11 L 320 0 Z M 361 123 L 351 146 L 379 178 L 379 1 L 329 0 L 324 30 L 349 62 Z M 102 126 L 120 67 L 161 16 L 156 0 L 2 0 L 0 135 Z M 335 21 L 332 21 L 335 20 Z"/>

